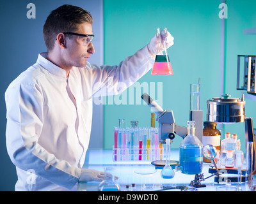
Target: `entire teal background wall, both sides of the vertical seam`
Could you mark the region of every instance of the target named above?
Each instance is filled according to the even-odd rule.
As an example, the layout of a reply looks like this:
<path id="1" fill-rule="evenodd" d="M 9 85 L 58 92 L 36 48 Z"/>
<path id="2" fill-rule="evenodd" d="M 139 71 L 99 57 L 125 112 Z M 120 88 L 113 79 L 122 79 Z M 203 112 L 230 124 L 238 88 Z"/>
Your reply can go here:
<path id="1" fill-rule="evenodd" d="M 168 49 L 173 76 L 152 76 L 148 72 L 139 82 L 163 83 L 163 108 L 171 109 L 177 124 L 186 126 L 189 119 L 189 84 L 201 78 L 201 109 L 206 119 L 206 101 L 223 92 L 240 98 L 236 90 L 237 55 L 256 55 L 256 35 L 244 35 L 243 29 L 256 27 L 256 1 L 227 0 L 228 18 L 225 19 L 225 66 L 221 73 L 221 19 L 219 4 L 215 1 L 104 1 L 104 63 L 118 64 L 150 41 L 157 27 L 167 27 L 175 38 Z M 224 75 L 221 81 L 221 75 Z M 222 85 L 223 84 L 223 87 Z M 131 89 L 131 88 L 130 88 Z M 157 85 L 155 85 L 157 89 Z M 128 92 L 128 91 L 127 91 Z M 143 91 L 141 91 L 142 93 Z M 126 101 L 129 100 L 129 94 Z M 122 96 L 119 96 L 122 99 Z M 157 98 L 157 93 L 156 93 Z M 256 127 L 256 102 L 246 100 L 246 117 L 252 117 Z M 150 126 L 150 108 L 147 105 L 104 106 L 104 148 L 113 145 L 113 126 L 118 119 L 138 120 L 141 127 Z M 244 123 L 218 127 L 221 134 L 236 133 L 245 151 Z M 172 148 L 179 148 L 181 138 L 176 136 Z"/>

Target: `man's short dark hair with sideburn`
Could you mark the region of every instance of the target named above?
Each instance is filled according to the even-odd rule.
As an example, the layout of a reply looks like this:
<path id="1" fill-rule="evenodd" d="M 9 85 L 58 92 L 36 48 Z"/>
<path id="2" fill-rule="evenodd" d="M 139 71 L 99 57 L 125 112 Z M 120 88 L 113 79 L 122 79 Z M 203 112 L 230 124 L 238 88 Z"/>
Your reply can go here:
<path id="1" fill-rule="evenodd" d="M 44 41 L 47 51 L 54 48 L 56 36 L 62 32 L 74 32 L 79 24 L 87 22 L 92 25 L 93 18 L 83 8 L 65 4 L 51 11 L 44 24 Z"/>

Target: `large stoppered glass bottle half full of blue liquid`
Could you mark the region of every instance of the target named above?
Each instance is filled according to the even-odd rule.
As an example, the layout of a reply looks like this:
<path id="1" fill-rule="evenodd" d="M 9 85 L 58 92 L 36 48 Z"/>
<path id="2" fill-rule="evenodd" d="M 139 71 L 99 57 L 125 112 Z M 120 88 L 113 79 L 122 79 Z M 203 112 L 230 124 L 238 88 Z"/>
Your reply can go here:
<path id="1" fill-rule="evenodd" d="M 182 173 L 196 174 L 203 169 L 203 145 L 195 136 L 195 121 L 188 121 L 188 136 L 180 142 L 180 169 Z"/>

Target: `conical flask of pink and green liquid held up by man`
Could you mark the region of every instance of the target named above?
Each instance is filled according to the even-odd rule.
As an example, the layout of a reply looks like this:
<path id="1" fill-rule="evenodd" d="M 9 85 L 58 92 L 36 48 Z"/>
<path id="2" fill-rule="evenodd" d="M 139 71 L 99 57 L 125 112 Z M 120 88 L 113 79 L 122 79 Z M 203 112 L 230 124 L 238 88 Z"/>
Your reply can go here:
<path id="1" fill-rule="evenodd" d="M 161 32 L 167 33 L 166 27 L 164 27 L 163 29 L 157 28 L 157 34 L 159 36 L 159 50 L 161 47 L 161 41 L 163 41 L 165 54 L 156 55 L 156 59 L 154 62 L 151 75 L 173 75 L 171 62 L 165 47 L 166 42 L 164 38 L 163 39 L 161 38 L 161 34 L 160 34 Z"/>

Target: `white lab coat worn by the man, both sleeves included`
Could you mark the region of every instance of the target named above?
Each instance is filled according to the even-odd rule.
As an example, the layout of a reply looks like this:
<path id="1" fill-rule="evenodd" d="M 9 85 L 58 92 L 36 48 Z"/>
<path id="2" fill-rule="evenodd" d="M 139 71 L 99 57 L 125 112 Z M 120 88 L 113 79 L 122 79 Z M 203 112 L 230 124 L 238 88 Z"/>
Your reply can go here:
<path id="1" fill-rule="evenodd" d="M 76 190 L 90 140 L 93 96 L 119 94 L 154 63 L 146 46 L 118 66 L 87 63 L 72 68 L 66 78 L 46 55 L 39 54 L 5 93 L 15 191 Z"/>

